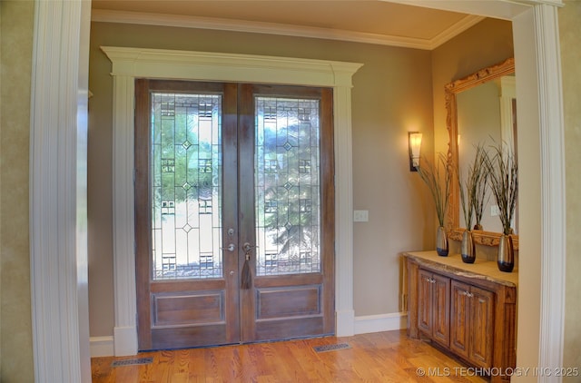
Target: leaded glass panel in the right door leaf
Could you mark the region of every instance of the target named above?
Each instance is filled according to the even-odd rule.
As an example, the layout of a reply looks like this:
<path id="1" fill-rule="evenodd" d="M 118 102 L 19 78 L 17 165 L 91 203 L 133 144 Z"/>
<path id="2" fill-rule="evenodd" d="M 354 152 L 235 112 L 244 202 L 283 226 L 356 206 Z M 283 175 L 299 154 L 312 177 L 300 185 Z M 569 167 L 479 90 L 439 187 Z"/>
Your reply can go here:
<path id="1" fill-rule="evenodd" d="M 255 105 L 256 273 L 320 272 L 320 101 Z"/>

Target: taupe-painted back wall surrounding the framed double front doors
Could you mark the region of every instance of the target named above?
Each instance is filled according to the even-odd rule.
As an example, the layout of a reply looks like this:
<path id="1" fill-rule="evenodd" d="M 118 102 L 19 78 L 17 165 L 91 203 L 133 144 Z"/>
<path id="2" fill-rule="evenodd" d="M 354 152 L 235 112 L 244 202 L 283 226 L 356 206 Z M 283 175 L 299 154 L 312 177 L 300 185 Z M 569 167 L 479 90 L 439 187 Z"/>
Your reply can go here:
<path id="1" fill-rule="evenodd" d="M 430 53 L 264 34 L 234 34 L 94 23 L 89 88 L 89 280 L 91 335 L 113 332 L 112 79 L 99 45 L 269 54 L 363 63 L 354 75 L 354 208 L 369 222 L 354 228 L 356 315 L 399 311 L 399 252 L 433 247 L 427 191 L 409 172 L 408 131 L 431 146 Z M 424 211 L 428 212 L 428 216 Z M 410 233 L 415 233 L 411 235 Z M 419 234 L 419 235 L 418 235 Z"/>

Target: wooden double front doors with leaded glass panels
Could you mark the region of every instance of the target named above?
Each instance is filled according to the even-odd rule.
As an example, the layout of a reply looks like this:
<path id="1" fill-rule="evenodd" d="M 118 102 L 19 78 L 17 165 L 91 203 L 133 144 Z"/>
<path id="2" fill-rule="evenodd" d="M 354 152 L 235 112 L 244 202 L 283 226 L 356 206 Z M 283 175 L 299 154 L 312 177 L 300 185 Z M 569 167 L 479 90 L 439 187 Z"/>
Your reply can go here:
<path id="1" fill-rule="evenodd" d="M 139 349 L 334 332 L 330 89 L 139 79 Z"/>

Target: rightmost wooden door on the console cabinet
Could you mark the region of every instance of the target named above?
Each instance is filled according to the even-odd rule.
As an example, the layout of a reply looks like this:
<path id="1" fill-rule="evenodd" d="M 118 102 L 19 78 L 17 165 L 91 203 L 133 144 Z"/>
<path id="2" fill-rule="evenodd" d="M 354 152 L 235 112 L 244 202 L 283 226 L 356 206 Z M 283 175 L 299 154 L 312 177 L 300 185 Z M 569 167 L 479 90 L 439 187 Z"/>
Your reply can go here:
<path id="1" fill-rule="evenodd" d="M 470 288 L 470 348 L 468 358 L 482 368 L 492 366 L 494 293 Z"/>

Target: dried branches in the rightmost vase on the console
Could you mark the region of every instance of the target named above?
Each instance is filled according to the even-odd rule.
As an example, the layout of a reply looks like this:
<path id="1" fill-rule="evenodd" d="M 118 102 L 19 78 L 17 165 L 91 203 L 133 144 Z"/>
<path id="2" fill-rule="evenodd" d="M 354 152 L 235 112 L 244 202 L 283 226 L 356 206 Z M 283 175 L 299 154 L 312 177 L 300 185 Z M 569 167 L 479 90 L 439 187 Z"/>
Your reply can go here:
<path id="1" fill-rule="evenodd" d="M 499 218 L 503 233 L 512 234 L 512 221 L 515 216 L 518 195 L 518 163 L 507 145 L 497 144 L 493 155 L 487 153 L 486 166 L 488 184 L 497 201 Z"/>

